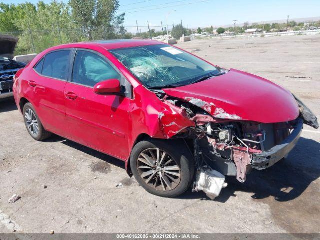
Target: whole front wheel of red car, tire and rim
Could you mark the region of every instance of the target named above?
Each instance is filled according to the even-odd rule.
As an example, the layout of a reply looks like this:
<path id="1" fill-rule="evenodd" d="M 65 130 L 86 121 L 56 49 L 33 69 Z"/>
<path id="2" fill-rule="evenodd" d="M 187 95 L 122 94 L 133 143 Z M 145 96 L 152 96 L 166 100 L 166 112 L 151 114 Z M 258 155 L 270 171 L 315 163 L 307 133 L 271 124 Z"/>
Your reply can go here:
<path id="1" fill-rule="evenodd" d="M 184 193 L 195 170 L 192 155 L 178 140 L 138 142 L 132 150 L 130 166 L 135 179 L 145 190 L 164 197 Z"/>

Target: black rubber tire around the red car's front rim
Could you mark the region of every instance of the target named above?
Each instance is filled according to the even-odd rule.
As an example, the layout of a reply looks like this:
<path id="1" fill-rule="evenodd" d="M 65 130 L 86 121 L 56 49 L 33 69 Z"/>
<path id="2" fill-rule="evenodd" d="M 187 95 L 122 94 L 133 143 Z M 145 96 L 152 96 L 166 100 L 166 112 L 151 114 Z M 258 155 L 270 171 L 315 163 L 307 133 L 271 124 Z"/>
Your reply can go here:
<path id="1" fill-rule="evenodd" d="M 155 181 L 155 183 L 151 185 L 146 183 L 146 179 L 143 179 L 141 177 L 141 173 L 139 173 L 138 171 L 138 164 L 139 164 L 138 158 L 140 154 L 149 149 L 156 149 L 156 148 L 166 152 L 167 158 L 173 159 L 176 165 L 180 167 L 178 171 L 180 174 L 179 183 L 177 183 L 175 188 L 172 188 L 172 189 L 167 188 L 166 190 L 164 189 L 159 190 L 159 187 L 160 186 L 162 187 L 162 185 L 160 185 L 156 189 L 158 176 L 154 175 L 156 180 L 152 178 L 152 181 Z M 184 193 L 192 183 L 194 172 L 195 172 L 195 164 L 194 164 L 193 156 L 190 153 L 189 149 L 187 148 L 186 144 L 182 140 L 149 139 L 149 140 L 143 140 L 138 142 L 133 147 L 131 152 L 130 167 L 135 179 L 146 191 L 148 191 L 151 194 L 163 196 L 163 197 L 176 197 Z M 155 170 L 154 168 L 152 169 Z M 162 175 L 164 174 L 167 174 L 167 173 L 162 172 Z M 167 176 L 167 175 L 164 175 L 164 176 Z M 168 178 L 166 179 L 168 180 Z M 160 181 L 160 184 L 162 184 L 162 181 Z"/>

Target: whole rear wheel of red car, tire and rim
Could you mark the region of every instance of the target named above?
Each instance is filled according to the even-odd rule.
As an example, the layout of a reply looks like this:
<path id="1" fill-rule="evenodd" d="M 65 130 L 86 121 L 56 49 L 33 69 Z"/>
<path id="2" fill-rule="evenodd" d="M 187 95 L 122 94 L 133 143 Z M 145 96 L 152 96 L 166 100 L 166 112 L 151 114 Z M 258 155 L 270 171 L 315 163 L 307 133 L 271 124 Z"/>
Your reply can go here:
<path id="1" fill-rule="evenodd" d="M 44 129 L 34 107 L 29 102 L 23 107 L 23 119 L 26 129 L 35 140 L 41 141 L 51 136 L 51 132 Z"/>

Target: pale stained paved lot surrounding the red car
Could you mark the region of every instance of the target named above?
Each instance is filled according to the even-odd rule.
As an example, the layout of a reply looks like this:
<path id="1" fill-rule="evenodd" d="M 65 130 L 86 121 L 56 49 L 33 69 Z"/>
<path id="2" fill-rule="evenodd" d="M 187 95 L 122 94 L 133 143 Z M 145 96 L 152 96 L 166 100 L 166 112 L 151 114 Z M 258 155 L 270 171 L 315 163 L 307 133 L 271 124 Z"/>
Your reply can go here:
<path id="1" fill-rule="evenodd" d="M 283 85 L 320 116 L 320 35 L 178 46 Z M 33 140 L 13 100 L 0 102 L 0 124 L 0 232 L 320 232 L 320 130 L 305 127 L 288 159 L 244 184 L 228 178 L 212 201 L 191 191 L 153 196 L 121 161 L 59 136 Z M 12 194 L 22 198 L 8 203 Z"/>

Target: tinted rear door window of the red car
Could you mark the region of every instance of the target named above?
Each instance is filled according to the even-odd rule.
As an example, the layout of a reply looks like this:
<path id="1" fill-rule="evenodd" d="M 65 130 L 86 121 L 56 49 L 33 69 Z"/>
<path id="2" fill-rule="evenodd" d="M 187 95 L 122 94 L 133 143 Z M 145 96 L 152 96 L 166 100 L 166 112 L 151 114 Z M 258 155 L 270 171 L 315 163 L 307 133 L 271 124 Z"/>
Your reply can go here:
<path id="1" fill-rule="evenodd" d="M 43 62 L 42 75 L 67 80 L 70 50 L 48 53 Z"/>

